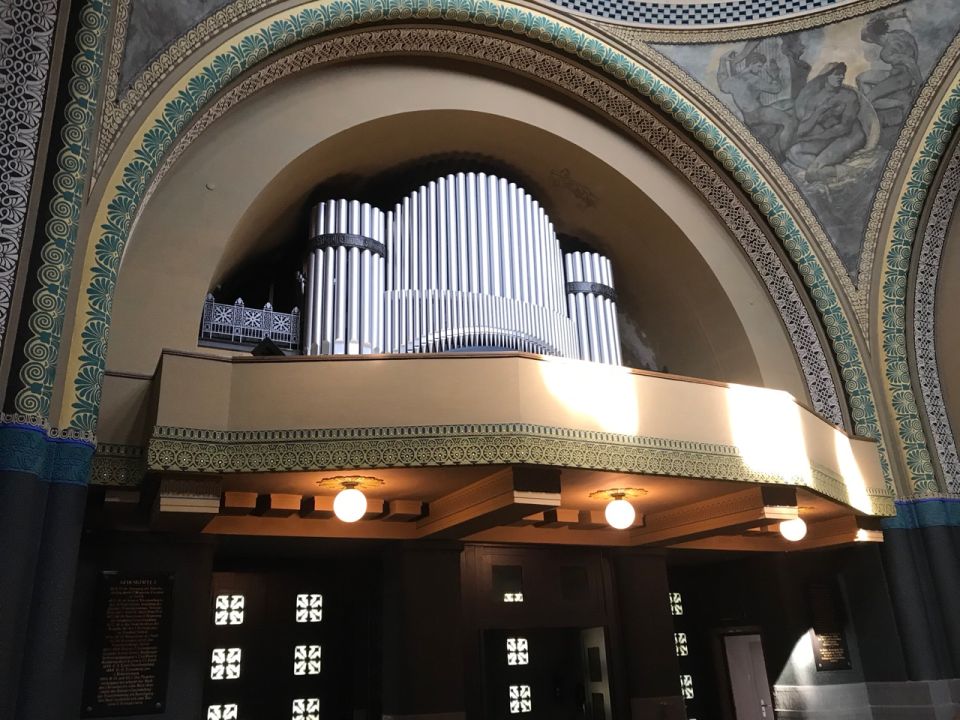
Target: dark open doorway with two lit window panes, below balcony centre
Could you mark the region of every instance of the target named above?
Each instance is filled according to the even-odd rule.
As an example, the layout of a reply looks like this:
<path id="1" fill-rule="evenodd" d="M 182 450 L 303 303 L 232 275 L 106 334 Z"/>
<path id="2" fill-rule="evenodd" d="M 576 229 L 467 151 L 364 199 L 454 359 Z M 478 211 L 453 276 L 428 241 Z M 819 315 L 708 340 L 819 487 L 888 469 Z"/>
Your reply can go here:
<path id="1" fill-rule="evenodd" d="M 487 630 L 483 634 L 489 720 L 608 720 L 603 628 Z"/>

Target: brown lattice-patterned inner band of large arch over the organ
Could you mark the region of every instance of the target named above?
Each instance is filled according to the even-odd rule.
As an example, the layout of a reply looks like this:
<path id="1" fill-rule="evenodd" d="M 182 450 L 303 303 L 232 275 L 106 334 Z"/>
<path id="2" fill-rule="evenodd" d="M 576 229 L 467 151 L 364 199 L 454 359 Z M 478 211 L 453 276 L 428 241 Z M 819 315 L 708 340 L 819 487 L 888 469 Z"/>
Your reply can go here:
<path id="1" fill-rule="evenodd" d="M 428 33 L 428 35 L 425 35 Z M 590 105 L 617 120 L 643 143 L 655 146 L 655 151 L 675 167 L 707 200 L 730 234 L 735 237 L 748 256 L 757 275 L 774 298 L 774 305 L 792 341 L 794 352 L 804 373 L 814 408 L 836 425 L 843 425 L 843 413 L 830 363 L 815 329 L 815 320 L 804 305 L 794 281 L 757 221 L 737 194 L 725 183 L 717 171 L 696 150 L 635 101 L 606 84 L 598 84 L 584 70 L 561 63 L 557 58 L 526 45 L 503 39 L 465 33 L 458 30 L 370 30 L 363 40 L 357 36 L 347 39 L 320 41 L 276 59 L 261 67 L 232 87 L 195 121 L 176 142 L 157 170 L 148 187 L 149 198 L 180 156 L 218 118 L 237 103 L 254 95 L 271 83 L 321 63 L 344 57 L 360 58 L 389 46 L 403 48 L 410 55 L 431 52 L 456 52 L 458 57 L 483 60 L 508 66 L 514 72 L 527 72 L 540 81 L 579 95 Z"/>

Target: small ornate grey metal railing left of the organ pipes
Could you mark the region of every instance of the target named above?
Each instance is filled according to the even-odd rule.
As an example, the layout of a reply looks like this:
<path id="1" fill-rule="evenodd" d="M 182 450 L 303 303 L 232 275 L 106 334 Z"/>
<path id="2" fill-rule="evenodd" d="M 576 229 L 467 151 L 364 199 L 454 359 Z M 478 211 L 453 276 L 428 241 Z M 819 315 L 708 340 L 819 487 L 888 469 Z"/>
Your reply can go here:
<path id="1" fill-rule="evenodd" d="M 242 298 L 232 305 L 218 303 L 207 295 L 200 323 L 200 343 L 254 346 L 264 338 L 282 350 L 300 351 L 300 310 L 280 313 L 270 303 L 263 309 L 248 308 Z"/>

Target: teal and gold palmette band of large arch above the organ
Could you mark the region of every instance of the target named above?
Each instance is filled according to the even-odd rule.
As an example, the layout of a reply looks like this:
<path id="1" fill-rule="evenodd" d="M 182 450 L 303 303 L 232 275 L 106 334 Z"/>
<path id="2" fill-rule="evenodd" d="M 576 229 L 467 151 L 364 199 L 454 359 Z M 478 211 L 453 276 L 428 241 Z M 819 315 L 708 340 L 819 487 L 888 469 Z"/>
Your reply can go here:
<path id="1" fill-rule="evenodd" d="M 184 75 L 149 114 L 110 178 L 95 227 L 102 233 L 87 247 L 84 275 L 67 371 L 63 425 L 92 432 L 96 425 L 110 297 L 137 208 L 164 154 L 214 96 L 245 70 L 296 42 L 361 23 L 446 19 L 516 33 L 575 55 L 646 96 L 681 124 L 750 195 L 794 262 L 823 319 L 849 397 L 854 430 L 879 438 L 875 406 L 860 349 L 837 293 L 797 223 L 776 191 L 734 143 L 686 98 L 646 67 L 602 40 L 541 12 L 491 0 L 378 0 L 313 2 L 283 11 L 222 43 Z M 37 312 L 37 310 L 35 310 Z M 30 361 L 28 361 L 30 362 Z M 36 361 L 34 361 L 36 362 Z M 25 387 L 21 393 L 50 387 Z M 19 400 L 19 397 L 18 397 Z M 49 398 L 46 400 L 47 406 Z M 28 403 L 29 404 L 29 403 Z M 884 464 L 886 466 L 885 460 Z M 889 472 L 888 472 L 889 475 Z"/>

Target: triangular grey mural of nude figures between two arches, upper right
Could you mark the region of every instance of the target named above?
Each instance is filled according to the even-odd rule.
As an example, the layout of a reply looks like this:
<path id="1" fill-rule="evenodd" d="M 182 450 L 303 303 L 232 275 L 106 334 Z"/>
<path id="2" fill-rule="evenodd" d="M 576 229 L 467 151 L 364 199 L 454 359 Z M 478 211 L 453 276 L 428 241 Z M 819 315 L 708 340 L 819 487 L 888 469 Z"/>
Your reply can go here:
<path id="1" fill-rule="evenodd" d="M 884 166 L 958 29 L 960 3 L 910 0 L 786 35 L 653 47 L 764 145 L 856 282 Z"/>

